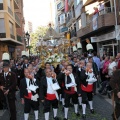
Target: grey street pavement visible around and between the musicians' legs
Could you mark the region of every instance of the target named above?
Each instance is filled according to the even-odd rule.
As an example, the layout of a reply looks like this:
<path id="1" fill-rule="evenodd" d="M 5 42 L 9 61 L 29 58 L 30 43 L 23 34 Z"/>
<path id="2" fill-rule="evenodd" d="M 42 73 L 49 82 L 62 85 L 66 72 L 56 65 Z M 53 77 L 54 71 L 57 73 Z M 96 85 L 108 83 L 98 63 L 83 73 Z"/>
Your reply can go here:
<path id="1" fill-rule="evenodd" d="M 108 100 L 106 100 L 105 97 L 103 97 L 99 94 L 95 95 L 94 101 L 93 101 L 95 114 L 90 113 L 89 105 L 87 105 L 87 118 L 86 118 L 86 120 L 112 120 L 111 114 L 112 114 L 113 108 L 112 108 L 110 101 L 111 100 L 108 101 Z M 24 118 L 23 118 L 23 115 L 24 115 L 23 110 L 24 109 L 23 109 L 23 105 L 21 105 L 21 103 L 20 103 L 19 93 L 17 94 L 16 106 L 17 106 L 17 120 L 24 120 Z M 79 112 L 82 115 L 82 110 L 79 110 Z M 70 107 L 69 120 L 82 120 L 81 115 L 79 117 L 77 117 L 74 114 L 74 107 Z M 60 118 L 60 120 L 63 120 L 63 118 L 64 118 L 64 113 L 62 112 L 61 104 L 59 104 L 58 117 Z M 9 114 L 8 114 L 7 110 L 0 117 L 0 120 L 9 120 Z M 30 113 L 29 120 L 34 120 L 33 111 L 31 111 L 31 113 Z M 42 104 L 40 104 L 39 120 L 44 120 Z M 52 109 L 50 112 L 50 120 L 53 120 Z"/>

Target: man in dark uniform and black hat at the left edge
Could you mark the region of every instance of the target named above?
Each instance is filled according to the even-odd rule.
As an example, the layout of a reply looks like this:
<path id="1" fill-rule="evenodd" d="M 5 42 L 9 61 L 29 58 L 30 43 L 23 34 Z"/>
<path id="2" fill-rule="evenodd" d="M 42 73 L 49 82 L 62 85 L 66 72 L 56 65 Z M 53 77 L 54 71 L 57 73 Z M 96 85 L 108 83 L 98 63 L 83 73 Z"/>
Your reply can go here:
<path id="1" fill-rule="evenodd" d="M 16 120 L 15 106 L 15 90 L 16 90 L 16 75 L 9 71 L 10 65 L 8 62 L 3 63 L 3 72 L 0 73 L 0 97 L 7 102 L 10 120 Z"/>

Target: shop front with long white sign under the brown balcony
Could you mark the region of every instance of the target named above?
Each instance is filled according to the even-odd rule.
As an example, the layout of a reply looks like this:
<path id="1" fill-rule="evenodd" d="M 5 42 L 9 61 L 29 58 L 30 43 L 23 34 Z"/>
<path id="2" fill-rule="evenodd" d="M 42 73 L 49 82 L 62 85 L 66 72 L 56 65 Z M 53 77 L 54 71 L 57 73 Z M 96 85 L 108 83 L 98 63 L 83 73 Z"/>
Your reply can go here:
<path id="1" fill-rule="evenodd" d="M 118 53 L 118 41 L 116 40 L 115 31 L 91 37 L 91 42 L 97 44 L 97 51 L 100 53 L 100 56 L 103 53 L 106 53 L 108 56 L 116 56 Z"/>

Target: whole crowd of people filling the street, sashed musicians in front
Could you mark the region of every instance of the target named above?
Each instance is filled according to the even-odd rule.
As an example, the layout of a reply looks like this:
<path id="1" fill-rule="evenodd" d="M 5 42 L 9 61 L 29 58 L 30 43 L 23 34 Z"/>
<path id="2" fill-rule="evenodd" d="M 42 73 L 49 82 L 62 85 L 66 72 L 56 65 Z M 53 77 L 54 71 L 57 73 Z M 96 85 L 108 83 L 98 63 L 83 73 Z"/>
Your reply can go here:
<path id="1" fill-rule="evenodd" d="M 53 119 L 58 116 L 59 103 L 62 103 L 64 120 L 69 118 L 69 107 L 74 107 L 76 117 L 87 117 L 86 105 L 91 114 L 95 113 L 93 97 L 96 94 L 115 97 L 113 120 L 120 116 L 120 53 L 116 58 L 104 55 L 101 58 L 93 53 L 68 55 L 55 67 L 50 62 L 40 66 L 41 59 L 27 56 L 15 61 L 3 54 L 0 73 L 0 109 L 9 111 L 10 120 L 17 120 L 16 91 L 19 91 L 24 105 L 24 120 L 29 119 L 31 109 L 35 120 L 39 120 L 40 104 L 43 105 L 44 119 L 49 120 L 51 107 Z M 99 93 L 98 93 L 99 92 Z M 82 109 L 80 113 L 79 109 Z M 111 114 L 110 114 L 111 115 Z"/>

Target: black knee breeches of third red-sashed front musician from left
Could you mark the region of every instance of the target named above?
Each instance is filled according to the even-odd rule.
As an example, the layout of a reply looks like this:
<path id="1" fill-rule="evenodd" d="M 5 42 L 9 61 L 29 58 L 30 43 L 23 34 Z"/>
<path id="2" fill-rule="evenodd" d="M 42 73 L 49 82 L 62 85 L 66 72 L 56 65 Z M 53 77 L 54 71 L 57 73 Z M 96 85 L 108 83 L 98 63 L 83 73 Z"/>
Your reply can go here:
<path id="1" fill-rule="evenodd" d="M 65 93 L 65 107 L 68 108 L 70 106 L 70 99 L 72 99 L 73 104 L 78 104 L 78 94 L 68 94 Z"/>

